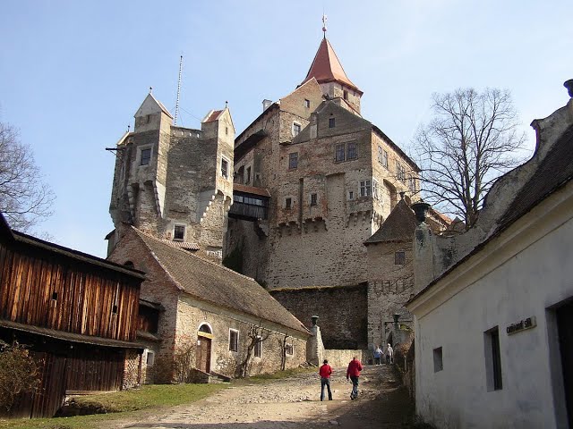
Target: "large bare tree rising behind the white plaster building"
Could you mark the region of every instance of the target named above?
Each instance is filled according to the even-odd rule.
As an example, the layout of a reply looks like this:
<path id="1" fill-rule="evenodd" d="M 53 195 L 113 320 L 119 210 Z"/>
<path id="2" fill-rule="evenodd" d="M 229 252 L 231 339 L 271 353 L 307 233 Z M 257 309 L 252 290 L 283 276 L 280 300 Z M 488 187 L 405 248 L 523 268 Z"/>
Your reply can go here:
<path id="1" fill-rule="evenodd" d="M 434 94 L 432 109 L 414 139 L 424 198 L 470 228 L 493 181 L 523 162 L 525 132 L 507 90 Z"/>

